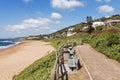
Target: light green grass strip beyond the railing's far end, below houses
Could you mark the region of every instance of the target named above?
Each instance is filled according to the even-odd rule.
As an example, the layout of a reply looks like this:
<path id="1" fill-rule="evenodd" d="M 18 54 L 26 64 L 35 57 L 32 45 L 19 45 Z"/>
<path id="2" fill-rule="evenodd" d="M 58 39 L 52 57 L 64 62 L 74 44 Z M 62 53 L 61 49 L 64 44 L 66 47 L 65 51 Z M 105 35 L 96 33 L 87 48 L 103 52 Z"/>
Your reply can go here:
<path id="1" fill-rule="evenodd" d="M 66 43 L 75 43 L 76 45 L 80 44 L 80 41 L 85 41 L 86 39 L 88 39 L 89 34 L 87 33 L 79 33 L 79 34 L 75 34 L 73 36 L 70 37 L 61 37 L 61 38 L 56 38 L 56 39 L 48 39 L 46 41 L 51 42 L 51 45 L 53 45 L 54 48 L 58 48 L 58 45 L 63 45 Z"/>

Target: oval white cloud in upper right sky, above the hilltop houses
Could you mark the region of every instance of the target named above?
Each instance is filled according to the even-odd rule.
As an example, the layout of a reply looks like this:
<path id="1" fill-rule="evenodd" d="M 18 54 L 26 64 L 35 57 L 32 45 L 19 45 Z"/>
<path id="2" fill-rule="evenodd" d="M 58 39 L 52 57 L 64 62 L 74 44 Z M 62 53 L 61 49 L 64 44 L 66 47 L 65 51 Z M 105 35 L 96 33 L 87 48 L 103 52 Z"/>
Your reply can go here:
<path id="1" fill-rule="evenodd" d="M 112 6 L 103 5 L 103 6 L 99 6 L 98 10 L 100 13 L 112 13 L 114 12 L 115 9 Z"/>

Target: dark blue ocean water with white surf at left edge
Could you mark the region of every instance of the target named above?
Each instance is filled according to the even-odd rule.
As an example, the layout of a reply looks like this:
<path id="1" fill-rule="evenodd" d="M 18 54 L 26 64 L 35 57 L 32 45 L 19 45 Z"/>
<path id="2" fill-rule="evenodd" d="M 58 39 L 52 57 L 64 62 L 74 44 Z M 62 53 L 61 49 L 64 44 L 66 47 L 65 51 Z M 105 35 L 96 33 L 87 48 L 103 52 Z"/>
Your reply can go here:
<path id="1" fill-rule="evenodd" d="M 14 39 L 0 39 L 0 50 L 15 46 L 20 42 L 14 41 Z"/>

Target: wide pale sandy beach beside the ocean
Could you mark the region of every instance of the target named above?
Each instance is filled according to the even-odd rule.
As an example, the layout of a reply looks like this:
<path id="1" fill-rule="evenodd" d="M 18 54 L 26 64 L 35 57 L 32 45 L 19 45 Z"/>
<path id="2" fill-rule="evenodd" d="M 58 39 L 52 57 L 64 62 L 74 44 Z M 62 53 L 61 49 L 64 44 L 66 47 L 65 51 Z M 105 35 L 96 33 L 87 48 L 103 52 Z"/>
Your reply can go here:
<path id="1" fill-rule="evenodd" d="M 47 42 L 22 41 L 21 44 L 0 51 L 0 80 L 12 77 L 54 48 Z"/>

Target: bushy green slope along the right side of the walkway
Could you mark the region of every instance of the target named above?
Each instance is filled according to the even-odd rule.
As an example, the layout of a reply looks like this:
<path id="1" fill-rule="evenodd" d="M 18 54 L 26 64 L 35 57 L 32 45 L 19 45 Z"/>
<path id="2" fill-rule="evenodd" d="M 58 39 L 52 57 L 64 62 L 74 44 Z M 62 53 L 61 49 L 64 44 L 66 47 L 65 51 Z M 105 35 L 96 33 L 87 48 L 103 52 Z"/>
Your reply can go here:
<path id="1" fill-rule="evenodd" d="M 89 39 L 93 48 L 120 62 L 120 26 L 107 29 Z"/>

